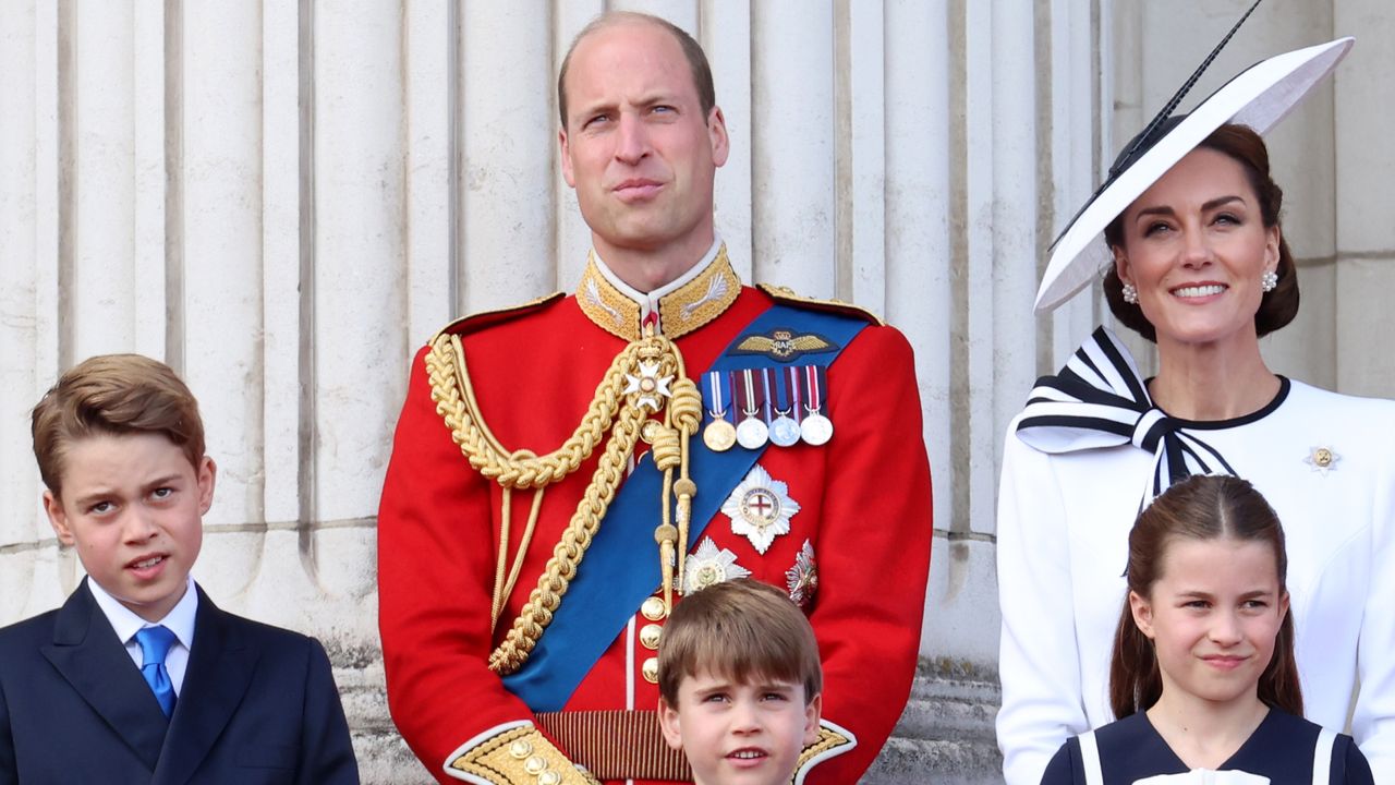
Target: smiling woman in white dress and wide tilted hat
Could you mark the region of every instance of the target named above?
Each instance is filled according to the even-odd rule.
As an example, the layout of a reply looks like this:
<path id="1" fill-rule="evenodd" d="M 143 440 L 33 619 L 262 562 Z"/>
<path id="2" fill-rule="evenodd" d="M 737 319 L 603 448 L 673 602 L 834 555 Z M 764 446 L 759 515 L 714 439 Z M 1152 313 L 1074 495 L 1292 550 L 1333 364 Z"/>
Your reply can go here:
<path id="1" fill-rule="evenodd" d="M 1395 656 L 1373 654 L 1395 636 L 1395 575 L 1384 568 L 1395 552 L 1395 404 L 1278 376 L 1258 341 L 1292 321 L 1299 300 L 1260 133 L 1350 45 L 1271 57 L 1168 116 L 1179 95 L 1055 246 L 1038 303 L 1055 307 L 1108 265 L 1110 309 L 1156 342 L 1159 370 L 1144 380 L 1101 327 L 1038 380 L 1009 426 L 997 735 L 1010 785 L 1036 785 L 1069 735 L 1117 717 L 1105 673 L 1127 522 L 1200 474 L 1243 476 L 1283 515 L 1307 717 L 1331 729 L 1350 717 L 1377 779 L 1395 781 L 1395 694 L 1381 689 Z"/>

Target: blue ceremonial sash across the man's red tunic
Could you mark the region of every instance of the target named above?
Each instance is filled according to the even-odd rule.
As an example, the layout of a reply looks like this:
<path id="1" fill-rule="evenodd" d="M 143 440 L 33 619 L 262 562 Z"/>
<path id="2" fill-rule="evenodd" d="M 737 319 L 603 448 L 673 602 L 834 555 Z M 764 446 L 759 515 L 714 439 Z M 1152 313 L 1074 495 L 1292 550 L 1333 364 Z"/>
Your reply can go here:
<path id="1" fill-rule="evenodd" d="M 709 370 L 788 367 L 795 363 L 827 366 L 866 324 L 865 320 L 837 313 L 776 305 L 748 324 Z M 792 358 L 790 362 L 763 355 L 732 355 L 748 337 L 769 334 L 777 328 L 816 334 L 833 348 Z M 695 379 L 700 379 L 700 374 Z M 731 489 L 746 476 L 762 453 L 764 447 L 732 447 L 725 453 L 713 453 L 702 439 L 689 441 L 688 472 L 698 485 L 688 529 L 689 552 L 707 522 L 721 510 Z M 658 496 L 663 487 L 664 475 L 654 468 L 654 461 L 646 453 L 615 493 L 552 623 L 533 647 L 527 662 L 504 677 L 504 686 L 523 698 L 533 711 L 561 711 L 576 686 L 635 616 L 639 605 L 663 582 L 658 546 L 654 542 L 654 528 L 661 521 Z"/>

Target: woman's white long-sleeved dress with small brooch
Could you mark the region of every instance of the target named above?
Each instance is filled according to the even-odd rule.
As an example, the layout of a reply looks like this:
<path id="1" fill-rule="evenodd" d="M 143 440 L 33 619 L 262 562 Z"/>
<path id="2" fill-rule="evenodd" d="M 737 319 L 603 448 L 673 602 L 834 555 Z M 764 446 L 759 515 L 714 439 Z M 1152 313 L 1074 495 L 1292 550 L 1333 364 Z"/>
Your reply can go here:
<path id="1" fill-rule="evenodd" d="M 1038 785 L 1067 738 L 1113 721 L 1122 574 L 1154 455 L 1127 441 L 1038 451 L 1017 434 L 1023 416 L 997 501 L 997 743 L 1007 784 Z M 1395 782 L 1395 402 L 1283 380 L 1260 412 L 1180 425 L 1283 522 L 1307 718 L 1342 729 L 1350 717 L 1375 781 Z"/>

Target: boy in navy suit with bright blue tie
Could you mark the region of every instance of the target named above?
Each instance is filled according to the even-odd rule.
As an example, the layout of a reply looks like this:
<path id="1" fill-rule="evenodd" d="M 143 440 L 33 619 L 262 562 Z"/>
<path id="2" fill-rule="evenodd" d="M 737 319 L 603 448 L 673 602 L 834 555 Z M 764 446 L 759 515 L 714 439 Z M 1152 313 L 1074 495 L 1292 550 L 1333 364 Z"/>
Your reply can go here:
<path id="1" fill-rule="evenodd" d="M 88 577 L 0 630 L 0 784 L 359 782 L 319 641 L 219 610 L 188 574 L 216 467 L 184 383 L 92 358 L 32 426 L 45 511 Z"/>

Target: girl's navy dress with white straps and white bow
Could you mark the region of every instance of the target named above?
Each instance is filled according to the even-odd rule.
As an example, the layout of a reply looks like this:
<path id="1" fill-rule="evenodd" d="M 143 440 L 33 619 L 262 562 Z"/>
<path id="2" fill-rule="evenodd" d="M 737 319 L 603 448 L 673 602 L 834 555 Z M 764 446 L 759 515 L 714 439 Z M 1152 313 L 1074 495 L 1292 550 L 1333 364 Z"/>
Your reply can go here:
<path id="1" fill-rule="evenodd" d="M 1373 785 L 1350 736 L 1269 710 L 1216 772 L 1190 771 L 1144 712 L 1077 736 L 1056 753 L 1041 785 Z"/>

